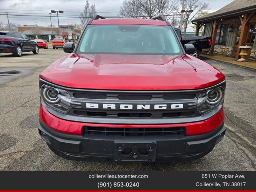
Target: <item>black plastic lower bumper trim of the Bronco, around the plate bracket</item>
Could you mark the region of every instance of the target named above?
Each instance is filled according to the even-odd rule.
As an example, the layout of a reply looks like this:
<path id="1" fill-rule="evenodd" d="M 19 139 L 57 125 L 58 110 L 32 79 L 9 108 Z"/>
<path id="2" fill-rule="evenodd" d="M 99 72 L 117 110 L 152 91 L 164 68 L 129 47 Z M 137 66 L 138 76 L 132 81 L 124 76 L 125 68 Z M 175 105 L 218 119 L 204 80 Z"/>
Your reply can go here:
<path id="1" fill-rule="evenodd" d="M 224 123 L 216 130 L 185 138 L 167 137 L 106 137 L 89 138 L 57 132 L 40 121 L 39 133 L 49 148 L 59 156 L 74 160 L 114 160 L 114 143 L 156 142 L 156 162 L 171 160 L 194 160 L 208 154 L 224 137 Z"/>

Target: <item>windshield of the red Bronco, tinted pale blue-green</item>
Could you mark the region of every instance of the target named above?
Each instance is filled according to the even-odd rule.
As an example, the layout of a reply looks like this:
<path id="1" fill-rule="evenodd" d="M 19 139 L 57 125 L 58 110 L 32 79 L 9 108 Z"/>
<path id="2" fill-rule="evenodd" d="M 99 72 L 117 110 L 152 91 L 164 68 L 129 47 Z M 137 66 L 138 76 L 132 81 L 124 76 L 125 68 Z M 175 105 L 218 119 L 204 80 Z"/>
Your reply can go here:
<path id="1" fill-rule="evenodd" d="M 153 25 L 88 25 L 76 52 L 85 54 L 182 54 L 172 28 Z"/>

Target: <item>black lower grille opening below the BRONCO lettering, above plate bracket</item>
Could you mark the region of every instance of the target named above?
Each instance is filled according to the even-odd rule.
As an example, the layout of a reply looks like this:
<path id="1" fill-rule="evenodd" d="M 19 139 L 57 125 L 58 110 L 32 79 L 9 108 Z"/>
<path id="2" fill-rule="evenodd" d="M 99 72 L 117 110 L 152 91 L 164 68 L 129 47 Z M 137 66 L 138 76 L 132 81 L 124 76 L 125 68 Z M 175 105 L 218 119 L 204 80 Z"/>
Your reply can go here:
<path id="1" fill-rule="evenodd" d="M 164 127 L 164 128 L 115 128 L 115 127 L 92 127 L 82 128 L 83 136 L 178 136 L 186 135 L 185 127 Z"/>

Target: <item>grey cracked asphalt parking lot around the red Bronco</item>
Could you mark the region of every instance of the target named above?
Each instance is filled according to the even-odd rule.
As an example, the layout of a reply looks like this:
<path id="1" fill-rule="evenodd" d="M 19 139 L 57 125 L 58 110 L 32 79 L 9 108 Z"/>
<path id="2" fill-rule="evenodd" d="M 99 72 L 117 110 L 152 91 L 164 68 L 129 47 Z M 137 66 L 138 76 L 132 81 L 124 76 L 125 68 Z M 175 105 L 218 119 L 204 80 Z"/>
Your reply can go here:
<path id="1" fill-rule="evenodd" d="M 256 71 L 204 59 L 226 75 L 224 139 L 190 162 L 110 163 L 64 160 L 38 134 L 39 74 L 66 55 L 39 50 L 0 54 L 0 170 L 256 170 Z"/>

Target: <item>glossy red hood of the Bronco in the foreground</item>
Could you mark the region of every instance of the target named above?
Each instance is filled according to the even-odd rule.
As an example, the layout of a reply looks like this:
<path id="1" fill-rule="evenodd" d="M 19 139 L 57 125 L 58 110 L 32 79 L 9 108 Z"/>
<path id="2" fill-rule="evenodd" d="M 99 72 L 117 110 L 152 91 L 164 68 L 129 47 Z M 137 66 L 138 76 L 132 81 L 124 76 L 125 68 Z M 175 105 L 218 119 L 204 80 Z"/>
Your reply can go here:
<path id="1" fill-rule="evenodd" d="M 40 78 L 71 88 L 187 90 L 212 86 L 225 76 L 189 55 L 71 53 L 48 66 Z"/>

